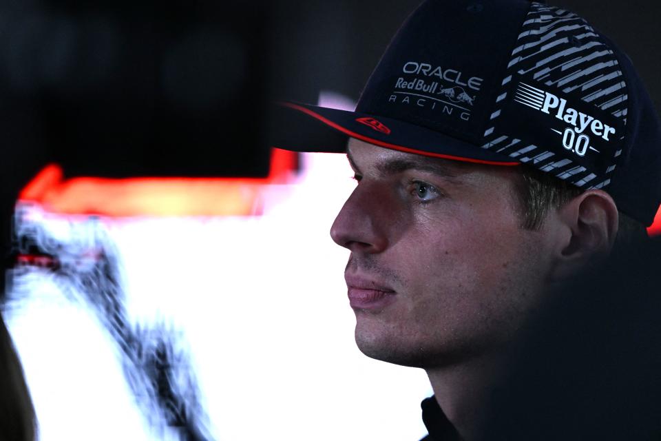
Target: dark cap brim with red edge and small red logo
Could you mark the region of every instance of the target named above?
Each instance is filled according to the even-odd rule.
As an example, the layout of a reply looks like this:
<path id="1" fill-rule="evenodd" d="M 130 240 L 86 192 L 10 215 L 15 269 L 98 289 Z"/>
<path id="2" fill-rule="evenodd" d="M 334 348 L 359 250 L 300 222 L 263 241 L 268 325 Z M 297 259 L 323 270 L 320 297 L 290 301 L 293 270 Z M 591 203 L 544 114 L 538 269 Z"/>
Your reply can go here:
<path id="1" fill-rule="evenodd" d="M 357 120 L 376 119 L 384 128 Z M 295 152 L 346 152 L 348 137 L 401 152 L 490 165 L 518 165 L 491 152 L 434 130 L 395 119 L 302 103 L 278 103 L 271 133 L 273 147 Z M 386 128 L 387 127 L 387 128 Z"/>

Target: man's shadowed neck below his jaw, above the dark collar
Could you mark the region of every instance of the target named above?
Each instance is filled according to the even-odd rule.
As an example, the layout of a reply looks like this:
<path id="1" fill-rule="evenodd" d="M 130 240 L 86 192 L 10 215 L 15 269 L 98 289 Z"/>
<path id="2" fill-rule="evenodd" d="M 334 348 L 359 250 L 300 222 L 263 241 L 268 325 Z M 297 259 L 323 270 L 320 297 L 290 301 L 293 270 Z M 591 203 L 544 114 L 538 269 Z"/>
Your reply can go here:
<path id="1" fill-rule="evenodd" d="M 463 440 L 479 435 L 502 356 L 475 358 L 448 367 L 426 369 L 434 396 Z"/>

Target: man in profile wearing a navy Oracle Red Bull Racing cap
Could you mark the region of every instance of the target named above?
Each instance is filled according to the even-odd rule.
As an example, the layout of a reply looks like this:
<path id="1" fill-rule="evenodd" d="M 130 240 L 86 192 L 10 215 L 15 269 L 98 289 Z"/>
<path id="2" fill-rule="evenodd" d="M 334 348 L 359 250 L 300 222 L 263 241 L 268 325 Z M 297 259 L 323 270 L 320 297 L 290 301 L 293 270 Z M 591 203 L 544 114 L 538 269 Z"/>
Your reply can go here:
<path id="1" fill-rule="evenodd" d="M 356 112 L 283 109 L 277 147 L 350 138 L 358 185 L 330 234 L 351 252 L 357 345 L 426 370 L 430 440 L 483 435 L 527 320 L 661 201 L 660 123 L 629 59 L 541 3 L 427 0 Z"/>

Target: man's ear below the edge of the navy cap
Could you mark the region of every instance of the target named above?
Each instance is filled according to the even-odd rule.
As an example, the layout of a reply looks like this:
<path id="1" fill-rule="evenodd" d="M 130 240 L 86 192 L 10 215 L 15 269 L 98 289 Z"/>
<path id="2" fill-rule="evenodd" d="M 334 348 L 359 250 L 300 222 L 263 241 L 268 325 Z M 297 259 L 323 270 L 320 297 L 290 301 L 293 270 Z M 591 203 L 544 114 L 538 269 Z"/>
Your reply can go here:
<path id="1" fill-rule="evenodd" d="M 609 254 L 618 234 L 618 208 L 606 192 L 590 189 L 557 209 L 554 279 L 561 280 Z"/>

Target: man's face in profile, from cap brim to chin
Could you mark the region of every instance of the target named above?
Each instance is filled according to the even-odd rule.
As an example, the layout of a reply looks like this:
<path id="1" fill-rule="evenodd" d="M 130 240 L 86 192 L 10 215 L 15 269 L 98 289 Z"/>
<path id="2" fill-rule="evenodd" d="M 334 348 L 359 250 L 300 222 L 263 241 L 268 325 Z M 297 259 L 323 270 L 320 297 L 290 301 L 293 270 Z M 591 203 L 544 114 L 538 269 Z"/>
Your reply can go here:
<path id="1" fill-rule="evenodd" d="M 514 167 L 349 143 L 358 185 L 330 231 L 366 355 L 441 367 L 497 349 L 543 291 L 545 227 L 521 227 Z"/>

